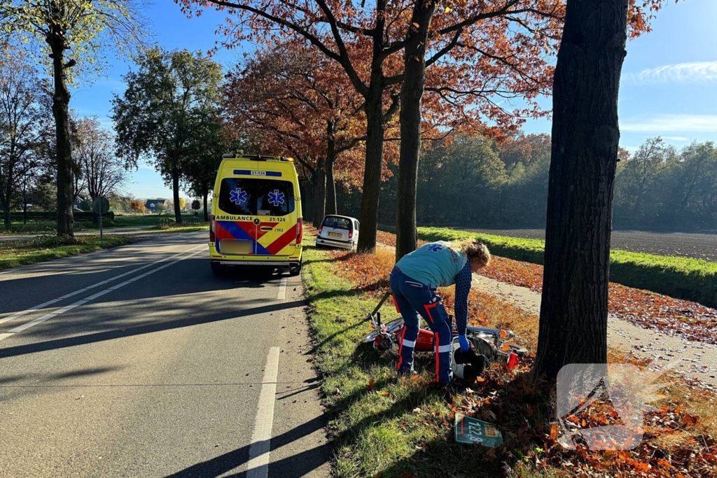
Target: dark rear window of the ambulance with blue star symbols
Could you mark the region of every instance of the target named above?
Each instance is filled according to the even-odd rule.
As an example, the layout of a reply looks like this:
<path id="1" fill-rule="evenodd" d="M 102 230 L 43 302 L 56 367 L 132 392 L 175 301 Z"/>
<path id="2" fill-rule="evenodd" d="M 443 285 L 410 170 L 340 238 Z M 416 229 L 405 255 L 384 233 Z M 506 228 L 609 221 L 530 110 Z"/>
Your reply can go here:
<path id="1" fill-rule="evenodd" d="M 285 216 L 294 211 L 294 185 L 276 179 L 224 178 L 219 209 L 227 214 Z"/>

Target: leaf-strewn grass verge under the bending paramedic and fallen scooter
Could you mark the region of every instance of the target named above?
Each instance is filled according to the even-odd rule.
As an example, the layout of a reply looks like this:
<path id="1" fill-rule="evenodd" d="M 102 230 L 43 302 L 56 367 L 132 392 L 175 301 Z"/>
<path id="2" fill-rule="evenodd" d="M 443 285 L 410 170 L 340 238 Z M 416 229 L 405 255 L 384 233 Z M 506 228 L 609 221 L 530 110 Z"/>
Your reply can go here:
<path id="1" fill-rule="evenodd" d="M 369 333 L 364 317 L 385 284 L 392 254 L 357 256 L 312 247 L 304 254 L 315 363 L 323 378 L 338 477 L 687 477 L 708 476 L 717 464 L 709 435 L 715 424 L 700 418 L 711 416 L 714 395 L 698 393 L 677 377 L 671 378 L 660 408 L 646 415 L 650 427 L 643 444 L 619 454 L 584 447 L 569 451 L 556 444 L 549 426 L 551 387 L 533 387 L 527 367 L 505 373 L 495 366 L 470 388 L 437 391 L 429 383 L 432 374 L 425 372 L 432 370 L 432 354 L 417 354 L 422 374 L 396 378 L 391 356 L 360 343 Z M 487 295 L 474 300 L 482 309 L 471 307 L 472 314 L 482 312 L 481 322 L 510 323 L 534 348 L 536 316 Z M 392 305 L 383 312 L 386 318 L 395 315 Z M 627 360 L 615 353 L 612 359 Z M 498 449 L 455 444 L 452 421 L 459 411 L 497 424 L 505 444 Z"/>

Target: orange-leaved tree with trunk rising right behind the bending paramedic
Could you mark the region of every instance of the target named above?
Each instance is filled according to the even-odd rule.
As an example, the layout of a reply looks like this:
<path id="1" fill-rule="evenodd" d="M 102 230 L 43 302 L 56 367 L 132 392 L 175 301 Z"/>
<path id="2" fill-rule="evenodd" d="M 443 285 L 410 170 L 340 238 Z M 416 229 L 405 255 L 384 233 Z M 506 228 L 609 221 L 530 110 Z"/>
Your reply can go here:
<path id="1" fill-rule="evenodd" d="M 663 1 L 642 0 L 638 6 L 630 0 L 632 37 L 649 30 L 650 16 Z M 564 16 L 565 0 L 453 0 L 443 9 L 437 0 L 412 3 L 403 55 L 397 259 L 416 248 L 424 87 L 448 105 L 459 102 L 458 112 L 474 113 L 474 128 L 483 135 L 515 131 L 526 116 L 545 114 L 535 98 L 550 94 Z M 506 110 L 500 103 L 510 98 L 526 107 Z M 488 127 L 486 120 L 495 125 Z"/>

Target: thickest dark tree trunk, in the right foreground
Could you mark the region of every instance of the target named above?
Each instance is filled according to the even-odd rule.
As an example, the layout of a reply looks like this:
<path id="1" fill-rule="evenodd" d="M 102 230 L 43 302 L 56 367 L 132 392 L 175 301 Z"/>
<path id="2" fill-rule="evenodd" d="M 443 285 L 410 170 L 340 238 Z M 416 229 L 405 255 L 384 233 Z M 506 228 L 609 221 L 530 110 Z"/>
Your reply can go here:
<path id="1" fill-rule="evenodd" d="M 553 90 L 536 373 L 607 361 L 617 95 L 628 0 L 569 0 Z"/>

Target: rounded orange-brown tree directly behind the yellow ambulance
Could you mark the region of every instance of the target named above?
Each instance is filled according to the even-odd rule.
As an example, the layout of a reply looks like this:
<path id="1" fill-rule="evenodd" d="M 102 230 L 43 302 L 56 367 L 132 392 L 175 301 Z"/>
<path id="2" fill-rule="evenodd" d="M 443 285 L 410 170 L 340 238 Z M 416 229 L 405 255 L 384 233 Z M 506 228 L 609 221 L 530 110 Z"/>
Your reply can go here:
<path id="1" fill-rule="evenodd" d="M 249 130 L 265 152 L 290 154 L 308 171 L 317 226 L 337 212 L 337 162 L 362 170 L 366 125 L 361 97 L 351 90 L 336 64 L 291 41 L 256 52 L 224 88 L 234 129 Z"/>

